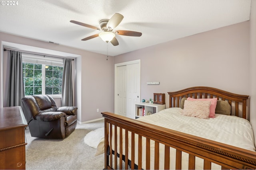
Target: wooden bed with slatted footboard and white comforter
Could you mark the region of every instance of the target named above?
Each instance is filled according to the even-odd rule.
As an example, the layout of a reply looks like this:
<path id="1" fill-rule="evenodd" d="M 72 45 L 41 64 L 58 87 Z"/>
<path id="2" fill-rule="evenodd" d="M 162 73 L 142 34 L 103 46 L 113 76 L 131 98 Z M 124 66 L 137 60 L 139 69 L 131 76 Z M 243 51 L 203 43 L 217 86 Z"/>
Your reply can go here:
<path id="1" fill-rule="evenodd" d="M 105 169 L 256 169 L 253 132 L 246 120 L 249 96 L 202 86 L 168 94 L 168 109 L 139 119 L 102 113 Z M 230 106 L 230 115 L 216 113 L 215 118 L 208 119 L 181 115 L 189 103 L 184 105 L 184 98 L 225 101 Z M 168 116 L 176 118 L 168 123 L 174 119 Z M 196 121 L 203 123 L 197 127 Z M 208 125 L 211 121 L 212 125 Z M 188 125 L 192 126 L 185 129 L 190 131 L 184 132 Z M 194 133 L 197 130 L 193 128 L 205 130 Z M 218 128 L 220 132 L 214 134 Z"/>

